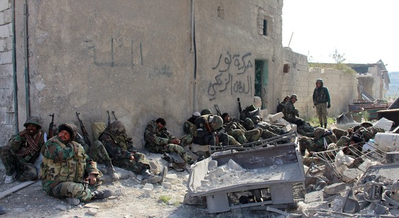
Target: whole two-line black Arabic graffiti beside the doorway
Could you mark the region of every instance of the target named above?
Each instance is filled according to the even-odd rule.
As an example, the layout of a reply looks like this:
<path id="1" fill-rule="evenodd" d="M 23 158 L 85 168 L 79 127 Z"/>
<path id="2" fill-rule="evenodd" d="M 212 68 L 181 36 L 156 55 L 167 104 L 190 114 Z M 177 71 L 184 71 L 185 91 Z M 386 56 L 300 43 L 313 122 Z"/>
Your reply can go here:
<path id="1" fill-rule="evenodd" d="M 208 86 L 210 101 L 215 99 L 217 93 L 226 91 L 230 91 L 230 95 L 244 93 L 252 96 L 252 76 L 247 74 L 246 77 L 243 77 L 242 75 L 247 69 L 253 67 L 251 60 L 249 60 L 250 56 L 251 53 L 240 56 L 239 54 L 231 55 L 229 52 L 224 58 L 222 54 L 219 56 L 216 66 L 212 68 L 217 70 L 218 73 L 215 80 L 209 82 Z M 221 60 L 223 60 L 223 63 Z M 232 65 L 235 67 L 230 67 Z M 234 75 L 238 75 L 237 78 Z"/>

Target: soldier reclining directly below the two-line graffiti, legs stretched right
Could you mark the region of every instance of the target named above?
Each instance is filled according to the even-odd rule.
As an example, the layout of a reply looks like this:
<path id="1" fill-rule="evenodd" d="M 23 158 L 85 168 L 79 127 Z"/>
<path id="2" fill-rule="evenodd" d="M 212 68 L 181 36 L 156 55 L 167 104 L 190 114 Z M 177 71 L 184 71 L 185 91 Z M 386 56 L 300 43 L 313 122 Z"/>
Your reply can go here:
<path id="1" fill-rule="evenodd" d="M 221 114 L 221 118 L 223 119 L 223 128 L 226 133 L 234 137 L 240 144 L 258 141 L 261 138 L 263 133 L 261 128 L 246 130 L 238 120 L 232 121 L 228 113 Z M 232 145 L 231 143 L 229 144 Z"/>

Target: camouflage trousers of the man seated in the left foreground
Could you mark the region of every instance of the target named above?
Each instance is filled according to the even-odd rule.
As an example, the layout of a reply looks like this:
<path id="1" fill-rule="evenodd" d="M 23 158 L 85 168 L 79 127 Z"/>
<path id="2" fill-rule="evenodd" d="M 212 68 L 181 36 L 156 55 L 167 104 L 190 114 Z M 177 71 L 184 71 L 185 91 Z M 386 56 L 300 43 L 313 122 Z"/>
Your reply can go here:
<path id="1" fill-rule="evenodd" d="M 44 180 L 42 182 L 43 190 L 50 196 L 58 198 L 75 197 L 81 202 L 89 202 L 93 196 L 93 191 L 97 190 L 101 181 L 97 180 L 96 184 L 88 185 L 85 189 L 82 183 L 77 182 L 54 182 Z"/>

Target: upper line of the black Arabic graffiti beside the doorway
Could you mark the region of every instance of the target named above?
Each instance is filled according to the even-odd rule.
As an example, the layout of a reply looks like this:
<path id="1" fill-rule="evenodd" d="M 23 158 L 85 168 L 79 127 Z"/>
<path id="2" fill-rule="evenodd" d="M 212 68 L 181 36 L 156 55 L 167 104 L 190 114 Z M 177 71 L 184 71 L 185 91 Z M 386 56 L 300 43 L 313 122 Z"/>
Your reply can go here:
<path id="1" fill-rule="evenodd" d="M 230 69 L 230 65 L 233 63 L 239 70 L 237 74 L 243 74 L 248 68 L 253 67 L 251 60 L 245 60 L 247 56 L 251 56 L 250 52 L 245 53 L 241 58 L 239 54 L 231 55 L 230 52 L 227 52 L 227 55 L 224 58 L 224 64 L 221 64 L 222 56 L 223 54 L 220 54 L 217 65 L 212 68 L 213 70 L 218 69 L 219 72 L 226 72 Z"/>

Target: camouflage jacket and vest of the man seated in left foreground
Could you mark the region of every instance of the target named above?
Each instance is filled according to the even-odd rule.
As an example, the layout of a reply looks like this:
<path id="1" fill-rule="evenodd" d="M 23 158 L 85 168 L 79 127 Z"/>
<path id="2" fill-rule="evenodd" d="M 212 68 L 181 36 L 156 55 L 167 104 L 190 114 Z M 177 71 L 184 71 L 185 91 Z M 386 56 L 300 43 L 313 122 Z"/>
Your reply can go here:
<path id="1" fill-rule="evenodd" d="M 40 179 L 43 189 L 49 191 L 60 182 L 83 182 L 86 175 L 99 175 L 97 163 L 88 158 L 79 143 L 64 144 L 58 136 L 49 139 L 42 149 Z"/>

